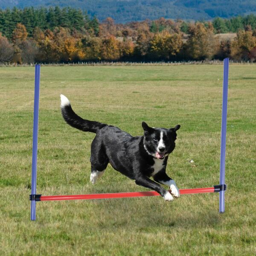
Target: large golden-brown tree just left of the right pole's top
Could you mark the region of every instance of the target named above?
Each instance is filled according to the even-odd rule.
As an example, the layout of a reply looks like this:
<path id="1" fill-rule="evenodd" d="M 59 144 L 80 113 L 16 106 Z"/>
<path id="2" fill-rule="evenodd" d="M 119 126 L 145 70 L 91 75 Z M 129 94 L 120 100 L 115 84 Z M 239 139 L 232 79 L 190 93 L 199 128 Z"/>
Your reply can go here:
<path id="1" fill-rule="evenodd" d="M 187 55 L 195 60 L 211 59 L 218 49 L 218 39 L 214 36 L 211 23 L 190 24 L 189 39 L 186 42 Z"/>

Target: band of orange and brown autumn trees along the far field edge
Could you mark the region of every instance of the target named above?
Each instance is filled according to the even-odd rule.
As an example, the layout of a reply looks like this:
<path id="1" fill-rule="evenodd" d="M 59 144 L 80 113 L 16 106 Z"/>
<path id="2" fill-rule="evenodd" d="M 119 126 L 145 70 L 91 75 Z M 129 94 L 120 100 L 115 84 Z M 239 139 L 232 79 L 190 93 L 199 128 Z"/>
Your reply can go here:
<path id="1" fill-rule="evenodd" d="M 212 23 L 187 24 L 186 38 L 180 32 L 182 20 L 144 20 L 115 24 L 111 17 L 96 29 L 89 26 L 81 30 L 55 27 L 42 30 L 17 23 L 12 33 L 12 44 L 0 35 L 0 61 L 16 63 L 76 62 L 76 61 L 162 61 L 183 59 L 206 60 L 231 56 L 236 60 L 256 60 L 256 30 L 249 26 L 237 33 L 233 41 L 219 42 Z M 98 24 L 98 23 L 97 23 Z M 182 29 L 182 31 L 184 31 Z M 254 34 L 253 34 L 254 33 Z M 97 35 L 97 36 L 95 36 Z M 186 40 L 187 39 L 187 40 Z M 11 56 L 11 57 L 10 57 Z M 35 57 L 36 56 L 36 57 Z M 30 63 L 29 62 L 29 63 Z"/>

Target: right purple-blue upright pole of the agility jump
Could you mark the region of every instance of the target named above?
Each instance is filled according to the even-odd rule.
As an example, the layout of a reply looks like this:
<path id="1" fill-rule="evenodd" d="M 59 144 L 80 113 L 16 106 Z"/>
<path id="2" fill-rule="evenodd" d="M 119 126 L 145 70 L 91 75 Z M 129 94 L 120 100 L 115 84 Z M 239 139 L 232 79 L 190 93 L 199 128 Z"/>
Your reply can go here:
<path id="1" fill-rule="evenodd" d="M 220 185 L 225 184 L 225 157 L 226 157 L 226 134 L 227 134 L 227 88 L 228 88 L 229 58 L 224 59 L 223 95 L 222 95 L 222 118 L 221 118 L 221 163 Z M 225 190 L 220 191 L 219 212 L 225 211 Z"/>

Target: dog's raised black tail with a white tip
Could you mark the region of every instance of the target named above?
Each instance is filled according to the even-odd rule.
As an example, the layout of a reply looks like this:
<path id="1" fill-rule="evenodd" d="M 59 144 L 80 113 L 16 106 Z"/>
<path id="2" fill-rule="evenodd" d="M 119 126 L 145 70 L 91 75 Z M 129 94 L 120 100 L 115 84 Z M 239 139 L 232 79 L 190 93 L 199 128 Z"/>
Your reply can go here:
<path id="1" fill-rule="evenodd" d="M 100 122 L 82 119 L 73 111 L 70 101 L 63 94 L 61 94 L 61 113 L 67 124 L 81 131 L 96 133 L 99 129 L 106 126 L 106 124 Z"/>

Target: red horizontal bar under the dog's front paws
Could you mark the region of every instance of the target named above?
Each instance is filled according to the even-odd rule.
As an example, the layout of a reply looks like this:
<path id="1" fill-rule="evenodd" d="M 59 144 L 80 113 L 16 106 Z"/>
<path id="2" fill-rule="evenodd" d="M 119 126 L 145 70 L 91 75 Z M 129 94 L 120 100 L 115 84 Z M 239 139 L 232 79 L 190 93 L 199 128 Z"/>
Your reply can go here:
<path id="1" fill-rule="evenodd" d="M 212 192 L 216 192 L 214 187 L 199 188 L 199 189 L 180 189 L 180 195 L 198 194 L 198 193 L 212 193 Z M 39 201 L 132 198 L 132 197 L 157 196 L 157 195 L 159 195 L 159 194 L 155 191 L 89 194 L 89 195 L 46 195 L 46 196 L 41 196 Z"/>

